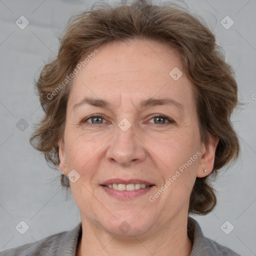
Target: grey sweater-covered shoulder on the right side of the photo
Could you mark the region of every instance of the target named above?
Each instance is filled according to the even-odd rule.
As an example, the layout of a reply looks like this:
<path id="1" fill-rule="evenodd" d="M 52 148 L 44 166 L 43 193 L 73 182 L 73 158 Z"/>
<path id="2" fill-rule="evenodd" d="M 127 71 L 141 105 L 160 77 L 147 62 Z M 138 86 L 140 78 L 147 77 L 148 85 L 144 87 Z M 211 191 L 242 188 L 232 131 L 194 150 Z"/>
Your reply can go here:
<path id="1" fill-rule="evenodd" d="M 193 237 L 193 246 L 190 256 L 207 255 L 207 256 L 241 256 L 207 237 L 202 233 L 199 223 L 189 217 L 191 236 Z"/>

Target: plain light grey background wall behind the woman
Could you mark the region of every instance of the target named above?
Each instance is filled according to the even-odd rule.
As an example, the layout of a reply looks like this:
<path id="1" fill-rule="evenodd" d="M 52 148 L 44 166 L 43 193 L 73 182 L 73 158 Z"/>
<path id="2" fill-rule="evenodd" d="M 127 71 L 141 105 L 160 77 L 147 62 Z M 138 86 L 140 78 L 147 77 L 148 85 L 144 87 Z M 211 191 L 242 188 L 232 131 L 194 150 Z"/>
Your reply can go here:
<path id="1" fill-rule="evenodd" d="M 60 172 L 50 169 L 28 140 L 42 116 L 33 79 L 56 53 L 57 36 L 68 17 L 93 2 L 0 1 L 0 250 L 71 229 L 80 221 L 72 197 L 65 200 L 61 191 Z M 232 116 L 241 140 L 240 157 L 215 182 L 218 203 L 213 212 L 194 218 L 205 236 L 241 255 L 256 255 L 256 0 L 186 0 L 180 5 L 201 15 L 216 34 L 245 103 Z M 24 29 L 15 24 L 21 15 L 29 21 Z M 226 15 L 234 21 L 229 29 L 220 23 Z M 16 126 L 21 118 L 28 123 L 23 131 Z M 23 235 L 15 229 L 21 220 L 29 226 Z M 226 220 L 234 226 L 229 234 L 220 228 Z"/>

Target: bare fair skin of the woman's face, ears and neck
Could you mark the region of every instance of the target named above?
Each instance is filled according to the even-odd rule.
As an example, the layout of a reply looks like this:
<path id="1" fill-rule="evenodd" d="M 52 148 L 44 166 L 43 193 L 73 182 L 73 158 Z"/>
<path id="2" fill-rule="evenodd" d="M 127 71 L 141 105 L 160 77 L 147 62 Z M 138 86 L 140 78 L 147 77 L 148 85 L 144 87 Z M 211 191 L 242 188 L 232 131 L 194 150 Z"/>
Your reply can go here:
<path id="1" fill-rule="evenodd" d="M 176 81 L 169 75 L 174 67 L 182 71 L 173 49 L 152 40 L 111 42 L 98 49 L 73 78 L 59 141 L 61 172 L 75 169 L 80 175 L 70 182 L 83 229 L 76 255 L 157 256 L 171 251 L 188 256 L 189 195 L 196 176 L 211 172 L 218 140 L 208 145 L 200 141 L 192 85 L 184 71 Z M 85 97 L 112 105 L 73 107 Z M 172 98 L 183 110 L 174 105 L 139 108 L 141 100 L 151 97 Z M 103 119 L 87 119 L 93 114 Z M 131 124 L 127 131 L 118 126 L 123 118 Z M 197 151 L 200 156 L 150 202 L 148 197 Z M 100 186 L 110 178 L 138 178 L 154 186 L 136 198 L 117 199 Z M 123 221 L 130 226 L 126 233 L 118 228 Z"/>

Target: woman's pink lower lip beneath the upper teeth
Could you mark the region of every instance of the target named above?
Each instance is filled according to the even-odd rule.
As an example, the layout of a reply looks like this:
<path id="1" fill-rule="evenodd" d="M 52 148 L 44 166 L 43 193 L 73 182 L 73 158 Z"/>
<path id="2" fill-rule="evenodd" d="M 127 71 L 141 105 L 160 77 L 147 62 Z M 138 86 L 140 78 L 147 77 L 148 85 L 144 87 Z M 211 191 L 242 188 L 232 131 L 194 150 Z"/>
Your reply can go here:
<path id="1" fill-rule="evenodd" d="M 120 190 L 115 190 L 113 188 L 109 188 L 107 186 L 103 186 L 101 185 L 101 187 L 109 194 L 109 195 L 112 195 L 114 196 L 115 198 L 117 199 L 132 199 L 132 198 L 135 198 L 137 196 L 140 196 L 140 195 L 143 195 L 145 193 L 147 193 L 149 190 L 151 190 L 151 188 L 153 187 L 154 185 L 152 186 L 148 186 L 148 187 L 145 187 L 145 188 L 139 188 L 139 189 L 135 189 L 135 190 L 132 190 L 132 191 L 126 191 L 126 190 L 123 190 L 123 191 L 120 191 Z"/>

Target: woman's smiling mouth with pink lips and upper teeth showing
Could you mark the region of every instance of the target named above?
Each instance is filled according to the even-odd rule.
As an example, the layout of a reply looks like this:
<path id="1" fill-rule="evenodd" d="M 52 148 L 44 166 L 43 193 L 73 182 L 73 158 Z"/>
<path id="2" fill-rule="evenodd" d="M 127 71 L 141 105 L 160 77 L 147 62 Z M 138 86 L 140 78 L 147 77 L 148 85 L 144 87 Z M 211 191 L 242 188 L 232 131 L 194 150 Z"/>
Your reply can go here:
<path id="1" fill-rule="evenodd" d="M 147 193 L 154 184 L 140 179 L 109 179 L 101 187 L 117 199 L 132 199 Z"/>

